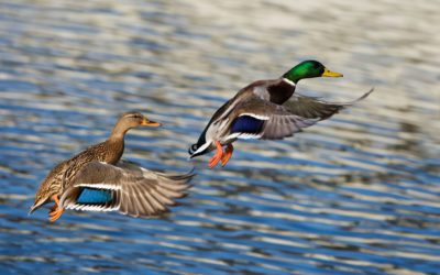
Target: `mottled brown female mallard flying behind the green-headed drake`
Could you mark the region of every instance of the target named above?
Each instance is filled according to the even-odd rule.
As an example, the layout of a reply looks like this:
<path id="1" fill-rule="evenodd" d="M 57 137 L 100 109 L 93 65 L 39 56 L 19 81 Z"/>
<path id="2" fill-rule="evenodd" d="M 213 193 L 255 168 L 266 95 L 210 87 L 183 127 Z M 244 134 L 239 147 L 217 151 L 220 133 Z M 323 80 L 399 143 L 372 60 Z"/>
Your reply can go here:
<path id="1" fill-rule="evenodd" d="M 127 131 L 140 125 L 160 123 L 139 112 L 124 113 L 107 141 L 55 166 L 40 186 L 30 212 L 50 201 L 55 201 L 52 222 L 65 209 L 119 211 L 134 217 L 165 212 L 174 199 L 185 196 L 194 175 L 155 173 L 120 161 Z"/>

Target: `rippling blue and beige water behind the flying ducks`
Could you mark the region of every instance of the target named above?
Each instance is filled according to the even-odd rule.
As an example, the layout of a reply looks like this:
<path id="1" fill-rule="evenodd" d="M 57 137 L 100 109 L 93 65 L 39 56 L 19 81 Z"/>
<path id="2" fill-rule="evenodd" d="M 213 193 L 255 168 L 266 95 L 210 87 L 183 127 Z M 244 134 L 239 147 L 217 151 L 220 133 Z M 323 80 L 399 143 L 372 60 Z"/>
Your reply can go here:
<path id="1" fill-rule="evenodd" d="M 437 1 L 1 1 L 2 274 L 437 274 Z M 252 80 L 317 58 L 341 79 L 298 91 L 359 106 L 285 141 L 237 143 L 223 169 L 187 162 L 209 116 Z M 141 110 L 125 158 L 186 172 L 163 219 L 47 209 L 59 161 Z"/>

